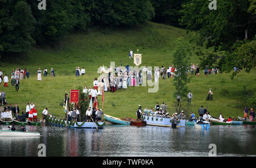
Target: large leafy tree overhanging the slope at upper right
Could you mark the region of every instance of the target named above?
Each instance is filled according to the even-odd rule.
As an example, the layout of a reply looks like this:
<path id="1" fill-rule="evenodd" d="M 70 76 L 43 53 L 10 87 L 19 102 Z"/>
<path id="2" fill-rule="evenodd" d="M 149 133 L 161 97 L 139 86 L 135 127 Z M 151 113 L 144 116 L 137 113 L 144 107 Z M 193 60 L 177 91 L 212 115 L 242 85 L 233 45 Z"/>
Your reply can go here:
<path id="1" fill-rule="evenodd" d="M 255 0 L 218 0 L 217 10 L 209 10 L 208 5 L 208 1 L 192 0 L 181 10 L 180 23 L 196 31 L 197 44 L 214 47 L 212 53 L 201 53 L 201 66 L 217 65 L 222 72 L 237 66 L 249 72 L 255 67 L 255 42 L 251 41 L 256 32 Z"/>

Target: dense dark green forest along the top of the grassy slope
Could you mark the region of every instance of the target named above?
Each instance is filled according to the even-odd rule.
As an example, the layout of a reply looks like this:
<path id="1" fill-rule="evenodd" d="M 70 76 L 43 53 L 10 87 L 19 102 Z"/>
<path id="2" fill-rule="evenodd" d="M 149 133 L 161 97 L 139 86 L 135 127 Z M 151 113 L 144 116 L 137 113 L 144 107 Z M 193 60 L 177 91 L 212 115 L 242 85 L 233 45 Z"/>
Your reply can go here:
<path id="1" fill-rule="evenodd" d="M 0 1 L 0 59 L 26 53 L 34 45 L 52 45 L 71 31 L 89 27 L 134 27 L 151 20 L 188 30 L 191 41 L 212 53 L 200 51 L 201 66 L 230 72 L 234 66 L 254 68 L 256 0 L 55 0 Z M 236 73 L 233 76 L 237 75 Z"/>

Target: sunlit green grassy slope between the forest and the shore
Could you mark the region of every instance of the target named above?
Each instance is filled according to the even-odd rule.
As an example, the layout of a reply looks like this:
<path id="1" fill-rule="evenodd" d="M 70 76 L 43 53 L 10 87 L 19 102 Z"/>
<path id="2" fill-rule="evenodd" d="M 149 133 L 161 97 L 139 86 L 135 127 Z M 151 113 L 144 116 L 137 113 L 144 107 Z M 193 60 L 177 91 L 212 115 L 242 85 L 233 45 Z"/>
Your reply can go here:
<path id="1" fill-rule="evenodd" d="M 128 57 L 128 52 L 134 53 L 139 49 L 142 53 L 142 65 L 168 66 L 172 64 L 172 53 L 176 48 L 178 37 L 187 37 L 185 30 L 163 24 L 145 23 L 135 28 L 93 28 L 86 33 L 77 33 L 65 36 L 55 47 L 34 48 L 23 57 L 15 58 L 10 62 L 0 62 L 3 73 L 9 75 L 17 66 L 27 68 L 31 72 L 30 79 L 20 82 L 20 90 L 9 86 L 7 89 L 1 85 L 0 90 L 6 91 L 9 104 L 18 104 L 25 108 L 27 102 L 33 101 L 41 115 L 45 107 L 50 112 L 63 114 L 64 110 L 59 104 L 64 98 L 65 91 L 84 86 L 92 86 L 93 79 L 98 77 L 97 69 L 104 64 L 122 64 L 134 66 L 133 60 Z M 190 58 L 193 63 L 199 63 L 195 54 Z M 16 62 L 19 62 L 17 64 Z M 75 77 L 76 66 L 84 66 L 86 75 Z M 46 67 L 55 69 L 55 78 L 42 77 L 42 82 L 37 81 L 36 70 Z M 192 110 L 197 112 L 201 105 L 208 106 L 211 115 L 216 116 L 222 112 L 224 116 L 241 115 L 243 108 L 244 87 L 251 93 L 255 92 L 255 71 L 240 74 L 240 77 L 230 79 L 230 74 L 211 75 L 204 78 L 203 71 L 200 78 L 193 75 L 189 89 L 193 94 Z M 9 82 L 10 84 L 10 82 Z M 212 102 L 207 102 L 205 97 L 212 88 L 214 95 Z M 138 104 L 142 107 L 154 107 L 156 102 L 166 102 L 168 109 L 173 108 L 172 92 L 174 86 L 172 79 L 160 80 L 159 91 L 148 93 L 148 87 L 128 87 L 127 90 L 119 90 L 115 93 L 105 93 L 104 112 L 109 115 L 123 117 L 135 117 Z M 227 90 L 228 95 L 222 96 L 221 91 Z M 99 97 L 101 102 L 101 97 Z M 100 103 L 101 107 L 101 103 Z"/>

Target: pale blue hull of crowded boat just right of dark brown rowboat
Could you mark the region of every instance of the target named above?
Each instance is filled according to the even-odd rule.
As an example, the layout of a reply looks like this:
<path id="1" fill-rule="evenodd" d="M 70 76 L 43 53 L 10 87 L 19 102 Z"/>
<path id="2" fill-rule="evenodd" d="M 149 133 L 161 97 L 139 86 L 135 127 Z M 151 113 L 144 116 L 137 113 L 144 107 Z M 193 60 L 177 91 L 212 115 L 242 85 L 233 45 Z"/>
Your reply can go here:
<path id="1" fill-rule="evenodd" d="M 147 122 L 147 125 L 172 127 L 172 121 L 170 118 L 151 117 L 143 115 L 143 120 Z M 178 120 L 177 127 L 185 127 L 185 120 Z"/>

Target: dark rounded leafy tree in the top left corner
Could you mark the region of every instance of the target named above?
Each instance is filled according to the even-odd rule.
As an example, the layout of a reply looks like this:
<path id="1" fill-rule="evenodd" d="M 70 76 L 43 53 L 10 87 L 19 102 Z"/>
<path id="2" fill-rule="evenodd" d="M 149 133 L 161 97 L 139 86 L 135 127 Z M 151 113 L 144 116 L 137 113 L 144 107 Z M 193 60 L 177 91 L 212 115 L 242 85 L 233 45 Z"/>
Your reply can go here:
<path id="1" fill-rule="evenodd" d="M 31 7 L 24 1 L 0 1 L 0 51 L 2 53 L 27 52 L 35 40 L 35 19 Z"/>

